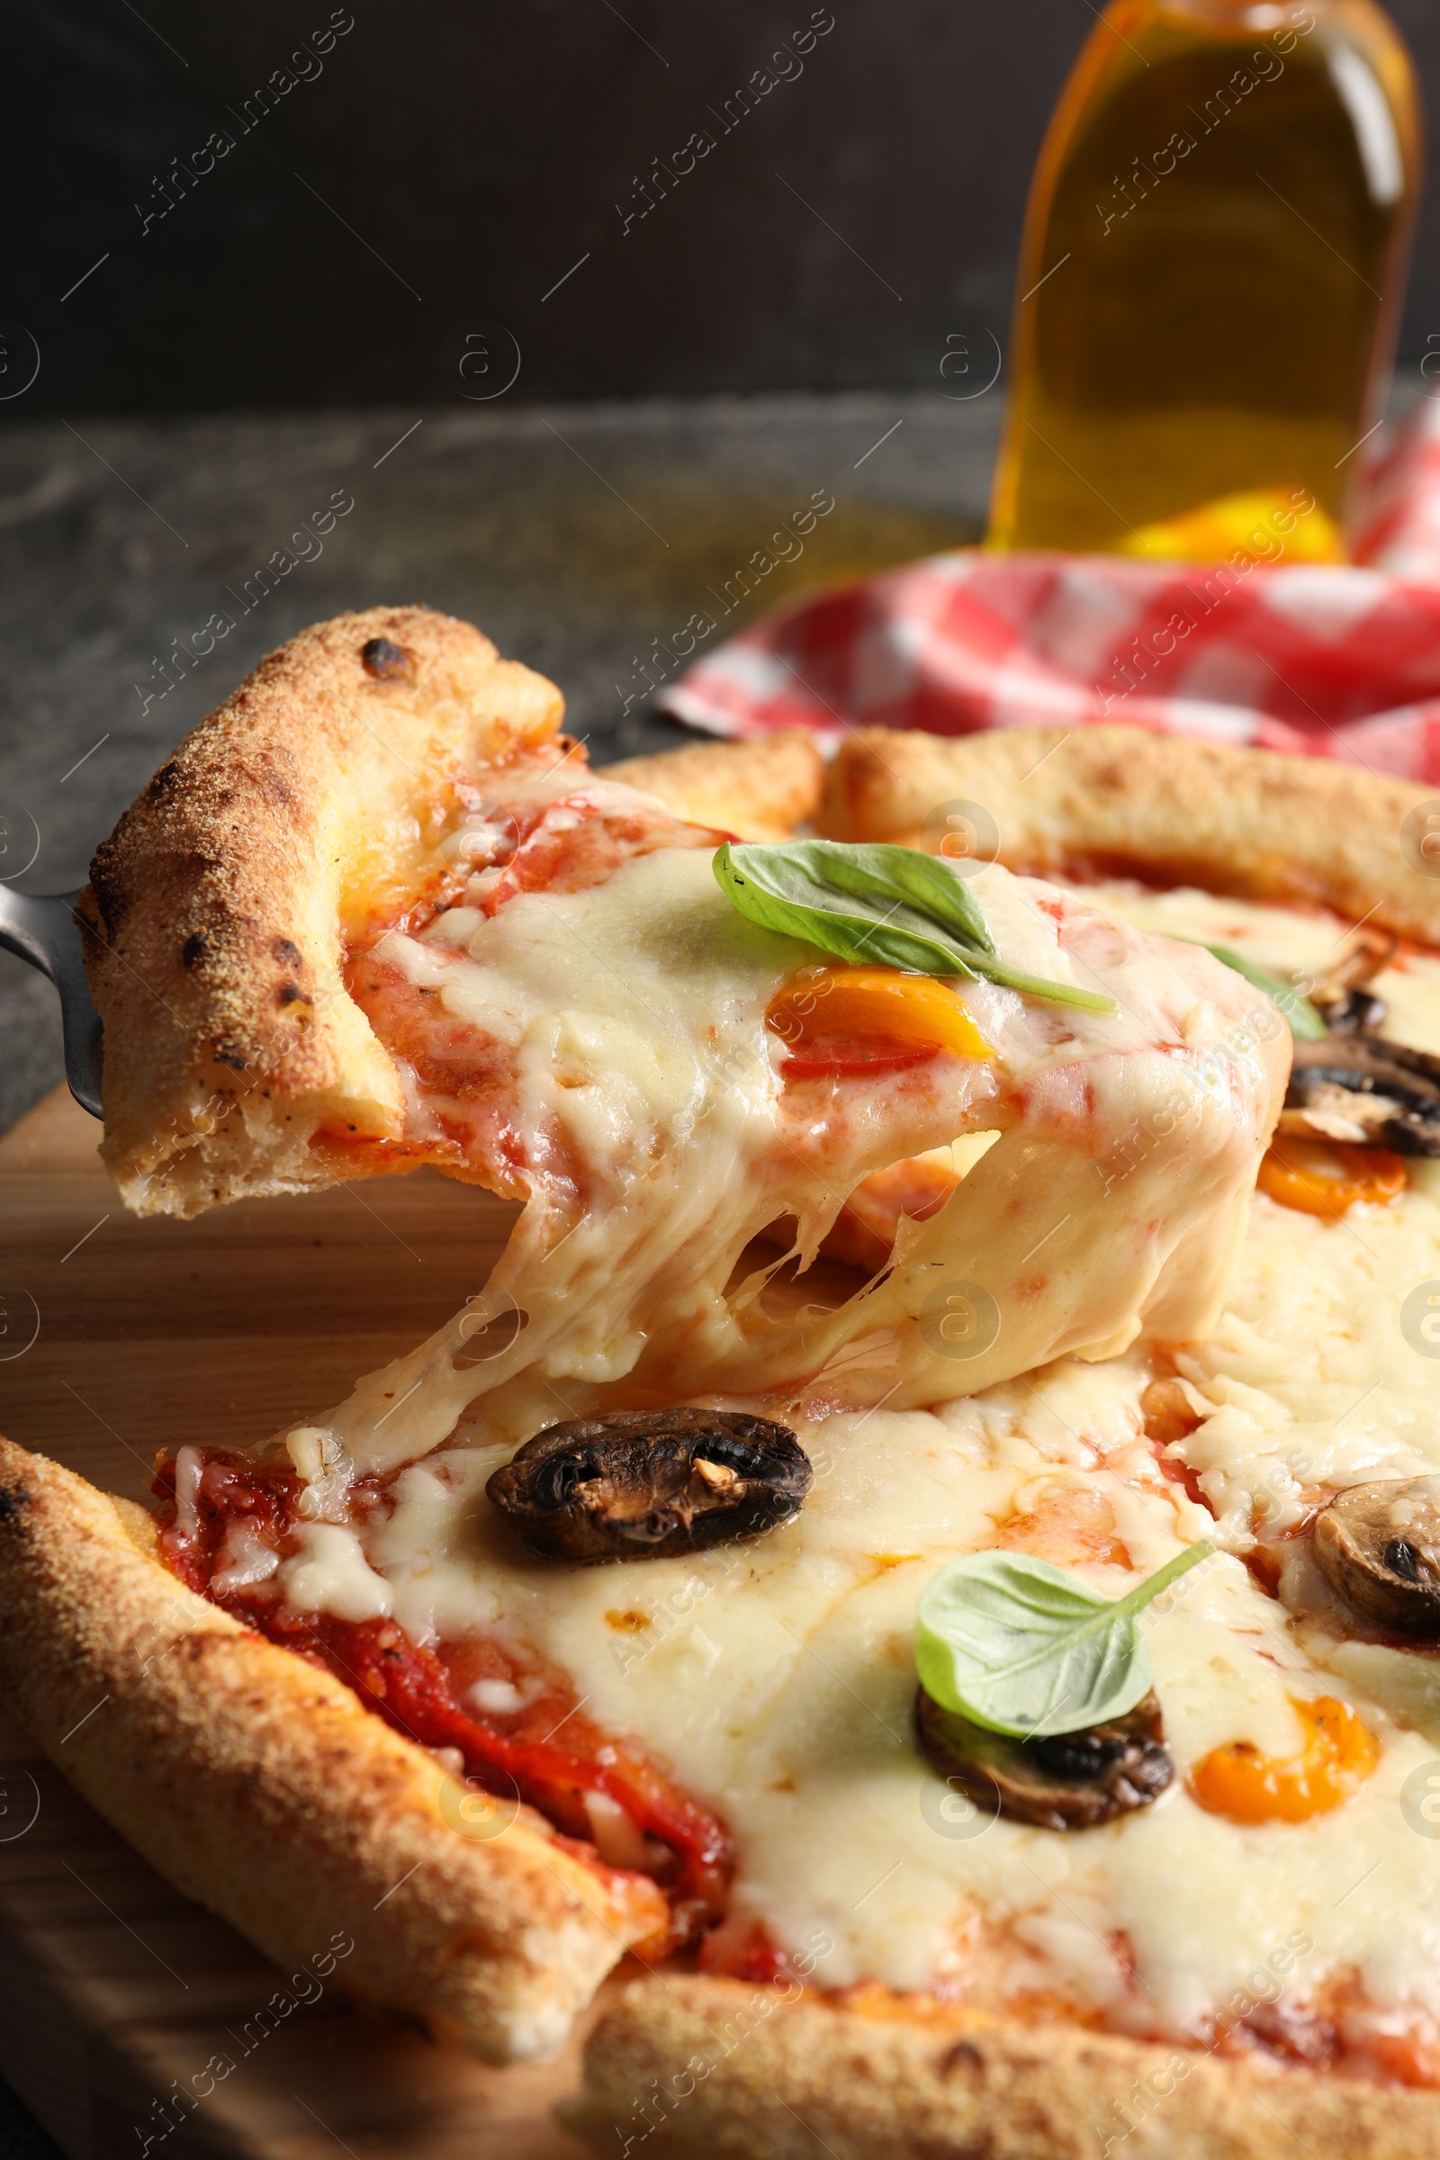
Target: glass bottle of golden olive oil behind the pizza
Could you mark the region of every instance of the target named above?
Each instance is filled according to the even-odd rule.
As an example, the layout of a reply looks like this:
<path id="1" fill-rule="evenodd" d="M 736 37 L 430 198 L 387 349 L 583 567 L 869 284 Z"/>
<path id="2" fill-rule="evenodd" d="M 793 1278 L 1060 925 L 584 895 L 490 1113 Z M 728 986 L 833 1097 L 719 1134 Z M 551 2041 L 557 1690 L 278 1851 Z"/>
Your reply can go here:
<path id="1" fill-rule="evenodd" d="M 1418 173 L 1373 0 L 1112 0 L 1030 186 L 991 546 L 1224 555 L 1274 501 L 1339 557 Z"/>

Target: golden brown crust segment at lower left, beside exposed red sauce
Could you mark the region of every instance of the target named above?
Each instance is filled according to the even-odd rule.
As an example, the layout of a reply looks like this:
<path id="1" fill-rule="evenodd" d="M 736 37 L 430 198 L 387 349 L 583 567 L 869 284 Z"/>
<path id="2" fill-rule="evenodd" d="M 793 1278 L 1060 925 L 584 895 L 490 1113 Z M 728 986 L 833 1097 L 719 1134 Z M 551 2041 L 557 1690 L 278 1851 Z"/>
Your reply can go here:
<path id="1" fill-rule="evenodd" d="M 497 2063 L 546 2056 L 637 1916 L 330 1674 L 186 1590 L 149 1516 L 0 1441 L 0 1693 L 186 1896 Z M 490 1834 L 486 1834 L 490 1832 Z M 656 1914 L 643 1916 L 654 1927 Z"/>

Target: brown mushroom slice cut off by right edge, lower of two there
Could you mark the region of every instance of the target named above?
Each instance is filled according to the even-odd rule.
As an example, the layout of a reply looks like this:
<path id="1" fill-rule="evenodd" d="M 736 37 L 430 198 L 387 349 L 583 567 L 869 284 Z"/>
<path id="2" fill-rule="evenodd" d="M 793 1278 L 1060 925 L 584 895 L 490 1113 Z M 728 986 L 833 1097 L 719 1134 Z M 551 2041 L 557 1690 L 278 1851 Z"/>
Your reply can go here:
<path id="1" fill-rule="evenodd" d="M 1315 1518 L 1315 1560 L 1362 1620 L 1440 1639 L 1440 1477 L 1349 1486 Z"/>

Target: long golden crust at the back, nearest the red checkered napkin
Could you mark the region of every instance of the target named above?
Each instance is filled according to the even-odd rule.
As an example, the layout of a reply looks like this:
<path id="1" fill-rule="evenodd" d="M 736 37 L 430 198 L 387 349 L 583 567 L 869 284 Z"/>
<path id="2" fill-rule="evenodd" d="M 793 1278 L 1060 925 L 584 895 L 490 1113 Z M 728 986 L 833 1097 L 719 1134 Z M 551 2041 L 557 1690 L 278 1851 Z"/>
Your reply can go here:
<path id="1" fill-rule="evenodd" d="M 997 860 L 1013 870 L 1090 868 L 1315 901 L 1440 944 L 1440 858 L 1436 875 L 1425 875 L 1401 840 L 1405 819 L 1431 799 L 1412 780 L 1330 758 L 1144 728 L 963 737 L 861 728 L 829 769 L 816 823 L 838 840 L 939 851 L 946 810 L 980 804 L 995 825 Z M 1410 834 L 1412 855 L 1418 838 Z"/>

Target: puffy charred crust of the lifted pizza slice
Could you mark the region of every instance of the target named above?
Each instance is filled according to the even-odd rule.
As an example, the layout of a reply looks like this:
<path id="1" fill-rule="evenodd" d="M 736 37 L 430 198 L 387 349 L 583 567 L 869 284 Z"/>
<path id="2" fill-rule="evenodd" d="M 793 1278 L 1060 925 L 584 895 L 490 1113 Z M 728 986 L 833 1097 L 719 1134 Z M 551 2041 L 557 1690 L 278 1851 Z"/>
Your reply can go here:
<path id="1" fill-rule="evenodd" d="M 300 631 L 166 758 L 80 899 L 130 1207 L 302 1192 L 352 1175 L 317 1128 L 399 1136 L 345 931 L 415 892 L 456 782 L 555 741 L 561 711 L 468 622 L 371 607 Z"/>

